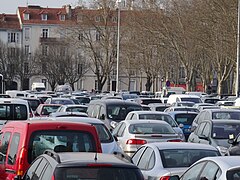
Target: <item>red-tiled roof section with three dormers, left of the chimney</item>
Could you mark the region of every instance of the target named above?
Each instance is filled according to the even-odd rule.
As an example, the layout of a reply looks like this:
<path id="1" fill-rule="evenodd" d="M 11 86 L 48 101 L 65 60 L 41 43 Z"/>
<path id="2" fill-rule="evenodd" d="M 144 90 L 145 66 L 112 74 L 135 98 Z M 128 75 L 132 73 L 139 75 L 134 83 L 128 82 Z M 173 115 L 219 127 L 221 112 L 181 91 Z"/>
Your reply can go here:
<path id="1" fill-rule="evenodd" d="M 61 25 L 66 24 L 65 21 L 61 21 L 59 18 L 60 14 L 67 14 L 66 8 L 43 8 L 40 6 L 28 6 L 28 7 L 18 7 L 21 22 L 23 24 L 55 24 Z M 24 20 L 24 13 L 29 14 L 29 20 Z M 47 20 L 42 20 L 41 15 L 47 14 Z"/>

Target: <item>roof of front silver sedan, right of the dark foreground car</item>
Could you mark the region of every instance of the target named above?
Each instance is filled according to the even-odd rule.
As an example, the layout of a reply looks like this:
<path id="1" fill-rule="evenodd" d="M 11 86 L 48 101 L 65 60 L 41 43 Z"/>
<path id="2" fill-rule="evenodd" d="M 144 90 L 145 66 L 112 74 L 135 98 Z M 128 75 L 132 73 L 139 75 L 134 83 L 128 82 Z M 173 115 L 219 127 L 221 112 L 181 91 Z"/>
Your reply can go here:
<path id="1" fill-rule="evenodd" d="M 190 142 L 156 142 L 149 143 L 145 146 L 157 147 L 159 150 L 163 149 L 208 149 L 216 150 L 214 146 L 209 144 L 199 144 L 199 143 L 190 143 Z"/>

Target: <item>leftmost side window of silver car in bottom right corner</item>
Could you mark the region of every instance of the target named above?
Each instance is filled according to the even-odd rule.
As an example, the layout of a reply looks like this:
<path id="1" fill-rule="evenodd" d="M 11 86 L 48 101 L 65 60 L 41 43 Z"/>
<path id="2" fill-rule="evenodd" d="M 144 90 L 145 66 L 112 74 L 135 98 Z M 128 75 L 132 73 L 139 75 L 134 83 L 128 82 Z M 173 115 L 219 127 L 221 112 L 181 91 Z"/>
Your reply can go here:
<path id="1" fill-rule="evenodd" d="M 187 172 L 185 172 L 181 178 L 181 180 L 196 180 L 198 179 L 198 176 L 202 170 L 202 168 L 205 166 L 206 162 L 200 162 L 196 164 L 195 166 L 188 169 Z"/>

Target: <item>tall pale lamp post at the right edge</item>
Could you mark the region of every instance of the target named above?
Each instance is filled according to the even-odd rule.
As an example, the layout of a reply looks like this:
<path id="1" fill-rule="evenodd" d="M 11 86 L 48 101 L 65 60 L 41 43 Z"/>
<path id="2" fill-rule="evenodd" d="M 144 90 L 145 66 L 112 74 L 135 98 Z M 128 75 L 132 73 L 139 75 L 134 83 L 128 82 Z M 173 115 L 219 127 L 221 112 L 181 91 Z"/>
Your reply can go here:
<path id="1" fill-rule="evenodd" d="M 238 32 L 237 32 L 237 65 L 236 65 L 236 72 L 237 72 L 237 77 L 236 77 L 236 96 L 239 96 L 239 61 L 240 61 L 240 0 L 238 0 Z"/>

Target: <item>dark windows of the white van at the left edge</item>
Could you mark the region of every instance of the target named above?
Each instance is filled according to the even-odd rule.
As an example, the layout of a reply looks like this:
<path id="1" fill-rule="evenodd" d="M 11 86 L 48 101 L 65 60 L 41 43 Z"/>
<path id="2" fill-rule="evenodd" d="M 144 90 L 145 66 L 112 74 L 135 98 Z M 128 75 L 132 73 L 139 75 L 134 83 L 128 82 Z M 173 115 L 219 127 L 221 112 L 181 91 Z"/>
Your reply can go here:
<path id="1" fill-rule="evenodd" d="M 27 106 L 23 104 L 1 104 L 0 120 L 27 120 Z"/>

